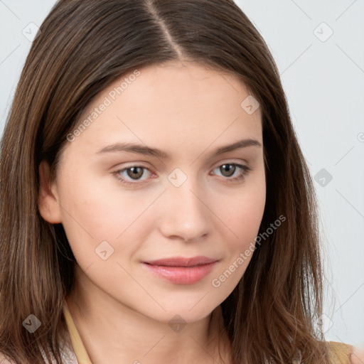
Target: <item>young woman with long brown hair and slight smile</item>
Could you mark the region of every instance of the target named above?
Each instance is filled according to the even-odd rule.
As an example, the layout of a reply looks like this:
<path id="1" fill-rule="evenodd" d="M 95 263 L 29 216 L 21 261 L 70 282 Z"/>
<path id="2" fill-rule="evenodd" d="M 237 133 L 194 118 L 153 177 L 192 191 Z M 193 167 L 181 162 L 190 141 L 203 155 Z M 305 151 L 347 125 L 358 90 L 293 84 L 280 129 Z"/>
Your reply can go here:
<path id="1" fill-rule="evenodd" d="M 60 0 L 1 141 L 6 363 L 360 363 L 320 325 L 316 198 L 230 0 Z"/>

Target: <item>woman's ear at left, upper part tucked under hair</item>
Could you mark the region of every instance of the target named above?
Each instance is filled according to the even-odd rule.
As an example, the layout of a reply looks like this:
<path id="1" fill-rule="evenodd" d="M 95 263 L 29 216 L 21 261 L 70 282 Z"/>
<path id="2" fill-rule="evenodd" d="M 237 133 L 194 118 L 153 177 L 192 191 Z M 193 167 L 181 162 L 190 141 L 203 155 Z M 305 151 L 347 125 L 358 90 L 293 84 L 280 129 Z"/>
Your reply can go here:
<path id="1" fill-rule="evenodd" d="M 62 223 L 60 203 L 55 183 L 50 185 L 50 167 L 46 161 L 39 166 L 38 208 L 42 218 L 48 223 Z"/>

